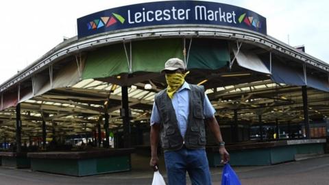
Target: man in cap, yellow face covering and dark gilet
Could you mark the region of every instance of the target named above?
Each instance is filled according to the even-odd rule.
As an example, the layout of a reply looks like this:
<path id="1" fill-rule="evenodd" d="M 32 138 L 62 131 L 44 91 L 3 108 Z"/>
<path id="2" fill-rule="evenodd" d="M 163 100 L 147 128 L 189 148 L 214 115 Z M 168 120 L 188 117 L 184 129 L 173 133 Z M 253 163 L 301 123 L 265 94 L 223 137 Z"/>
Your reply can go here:
<path id="1" fill-rule="evenodd" d="M 158 93 L 151 114 L 151 167 L 158 164 L 158 142 L 164 149 L 169 185 L 186 184 L 186 171 L 192 184 L 211 184 L 206 157 L 204 119 L 219 143 L 223 163 L 229 154 L 215 119 L 215 109 L 203 86 L 185 82 L 184 62 L 171 58 L 164 64 L 167 88 Z"/>

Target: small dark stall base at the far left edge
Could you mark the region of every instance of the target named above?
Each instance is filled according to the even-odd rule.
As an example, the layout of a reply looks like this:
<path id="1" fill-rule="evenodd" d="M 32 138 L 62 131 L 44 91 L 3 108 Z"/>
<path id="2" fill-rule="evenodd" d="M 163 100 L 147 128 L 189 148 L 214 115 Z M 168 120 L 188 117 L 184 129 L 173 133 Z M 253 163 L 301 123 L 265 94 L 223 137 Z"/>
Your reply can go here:
<path id="1" fill-rule="evenodd" d="M 26 153 L 0 152 L 1 165 L 16 169 L 28 169 L 31 165 Z"/>

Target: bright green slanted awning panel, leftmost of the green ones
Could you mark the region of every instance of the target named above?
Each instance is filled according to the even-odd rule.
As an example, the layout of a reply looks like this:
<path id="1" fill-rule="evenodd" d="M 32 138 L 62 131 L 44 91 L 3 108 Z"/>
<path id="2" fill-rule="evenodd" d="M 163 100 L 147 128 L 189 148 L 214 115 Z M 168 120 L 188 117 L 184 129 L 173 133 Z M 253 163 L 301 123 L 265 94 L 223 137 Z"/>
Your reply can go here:
<path id="1" fill-rule="evenodd" d="M 110 77 L 120 73 L 128 73 L 128 71 L 125 49 L 121 43 L 88 53 L 82 79 Z"/>

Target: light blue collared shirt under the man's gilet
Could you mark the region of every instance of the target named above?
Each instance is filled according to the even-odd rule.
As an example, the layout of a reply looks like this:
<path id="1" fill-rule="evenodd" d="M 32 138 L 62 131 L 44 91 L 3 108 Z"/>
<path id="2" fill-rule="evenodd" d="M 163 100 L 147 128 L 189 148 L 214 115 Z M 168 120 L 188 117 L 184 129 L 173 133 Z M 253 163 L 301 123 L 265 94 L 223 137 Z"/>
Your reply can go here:
<path id="1" fill-rule="evenodd" d="M 180 128 L 180 134 L 182 134 L 183 138 L 185 136 L 186 127 L 187 127 L 187 119 L 188 119 L 188 108 L 189 108 L 189 98 L 188 98 L 188 90 L 191 90 L 190 86 L 188 86 L 187 82 L 184 82 L 182 87 L 178 89 L 178 91 L 173 94 L 173 99 L 171 99 L 171 103 L 173 103 L 173 109 L 175 110 L 176 118 L 178 121 L 178 126 Z M 210 118 L 214 116 L 215 109 L 212 107 L 208 96 L 204 96 L 204 117 Z M 152 114 L 151 114 L 151 125 L 154 123 L 160 123 L 159 111 L 156 106 L 156 101 L 154 101 Z"/>

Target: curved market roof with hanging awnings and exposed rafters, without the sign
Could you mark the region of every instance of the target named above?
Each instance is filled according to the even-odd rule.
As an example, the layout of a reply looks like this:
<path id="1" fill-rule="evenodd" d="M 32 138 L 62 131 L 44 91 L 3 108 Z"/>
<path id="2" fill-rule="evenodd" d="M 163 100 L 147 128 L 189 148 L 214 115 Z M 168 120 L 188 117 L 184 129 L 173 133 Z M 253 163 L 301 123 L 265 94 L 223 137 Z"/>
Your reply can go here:
<path id="1" fill-rule="evenodd" d="M 40 134 L 42 120 L 58 134 L 91 132 L 106 108 L 110 127 L 121 127 L 121 86 L 129 86 L 133 123 L 147 123 L 154 95 L 166 87 L 159 71 L 172 57 L 191 71 L 187 82 L 206 87 L 223 122 L 239 110 L 248 123 L 260 114 L 267 123 L 298 123 L 300 86 L 308 86 L 310 118 L 329 115 L 325 62 L 239 27 L 155 25 L 71 38 L 45 53 L 1 84 L 0 133 L 14 136 L 17 103 L 23 138 Z"/>

